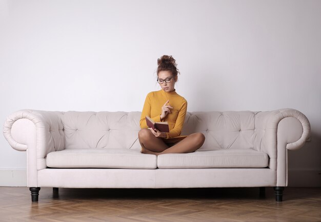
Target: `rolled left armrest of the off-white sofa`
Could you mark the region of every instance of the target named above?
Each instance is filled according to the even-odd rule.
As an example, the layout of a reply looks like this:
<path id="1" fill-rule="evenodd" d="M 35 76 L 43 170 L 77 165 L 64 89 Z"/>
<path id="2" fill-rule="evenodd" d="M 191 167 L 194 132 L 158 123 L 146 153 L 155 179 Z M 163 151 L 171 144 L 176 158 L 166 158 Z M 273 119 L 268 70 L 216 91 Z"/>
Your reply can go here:
<path id="1" fill-rule="evenodd" d="M 61 115 L 58 111 L 24 109 L 7 117 L 4 136 L 13 149 L 27 151 L 28 177 L 29 173 L 35 173 L 34 170 L 46 168 L 48 153 L 65 148 Z"/>

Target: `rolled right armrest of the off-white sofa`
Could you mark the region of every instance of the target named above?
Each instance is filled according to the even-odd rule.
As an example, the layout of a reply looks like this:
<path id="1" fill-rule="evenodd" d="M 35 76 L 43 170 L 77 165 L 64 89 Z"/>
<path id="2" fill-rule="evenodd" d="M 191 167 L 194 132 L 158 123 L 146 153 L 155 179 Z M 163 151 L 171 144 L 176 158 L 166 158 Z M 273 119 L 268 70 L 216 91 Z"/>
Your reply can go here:
<path id="1" fill-rule="evenodd" d="M 255 116 L 254 148 L 270 157 L 277 171 L 276 186 L 287 186 L 287 150 L 304 146 L 310 137 L 308 118 L 295 109 L 259 112 Z"/>

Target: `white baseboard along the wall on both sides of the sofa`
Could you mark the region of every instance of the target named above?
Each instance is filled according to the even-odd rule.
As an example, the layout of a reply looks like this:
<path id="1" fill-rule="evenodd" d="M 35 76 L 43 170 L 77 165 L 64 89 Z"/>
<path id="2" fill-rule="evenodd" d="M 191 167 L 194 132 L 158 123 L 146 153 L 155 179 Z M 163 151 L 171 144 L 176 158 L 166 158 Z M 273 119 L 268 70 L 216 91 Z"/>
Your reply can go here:
<path id="1" fill-rule="evenodd" d="M 289 170 L 289 187 L 321 187 L 321 171 Z M 26 169 L 0 169 L 1 187 L 26 187 Z"/>

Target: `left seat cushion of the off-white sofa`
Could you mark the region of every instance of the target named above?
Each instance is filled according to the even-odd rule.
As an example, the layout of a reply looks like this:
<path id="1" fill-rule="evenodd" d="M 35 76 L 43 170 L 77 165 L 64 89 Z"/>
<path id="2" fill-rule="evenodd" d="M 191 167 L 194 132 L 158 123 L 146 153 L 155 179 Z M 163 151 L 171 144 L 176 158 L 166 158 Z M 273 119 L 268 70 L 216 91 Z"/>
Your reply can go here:
<path id="1" fill-rule="evenodd" d="M 157 168 L 155 155 L 128 149 L 65 149 L 49 153 L 46 163 L 53 168 Z"/>

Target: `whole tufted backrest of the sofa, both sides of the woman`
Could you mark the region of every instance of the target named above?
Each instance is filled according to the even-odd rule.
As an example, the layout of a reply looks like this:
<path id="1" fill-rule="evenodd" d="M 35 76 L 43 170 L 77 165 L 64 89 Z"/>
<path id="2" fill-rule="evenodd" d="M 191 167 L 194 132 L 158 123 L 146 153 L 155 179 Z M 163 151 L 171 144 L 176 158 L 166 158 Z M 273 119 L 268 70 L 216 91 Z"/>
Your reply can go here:
<path id="1" fill-rule="evenodd" d="M 200 150 L 253 149 L 257 112 L 187 112 L 181 135 L 202 132 Z M 61 112 L 66 149 L 141 149 L 138 141 L 141 112 Z"/>

